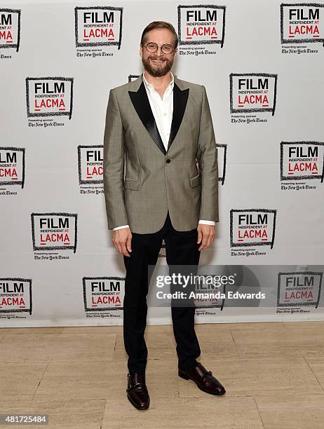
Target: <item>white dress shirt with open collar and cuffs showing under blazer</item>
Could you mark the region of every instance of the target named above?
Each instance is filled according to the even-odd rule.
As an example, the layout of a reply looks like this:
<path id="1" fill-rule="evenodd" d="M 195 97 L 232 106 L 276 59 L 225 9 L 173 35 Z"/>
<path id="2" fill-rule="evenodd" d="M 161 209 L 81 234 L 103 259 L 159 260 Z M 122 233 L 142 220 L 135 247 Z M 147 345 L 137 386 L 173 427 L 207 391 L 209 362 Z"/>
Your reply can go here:
<path id="1" fill-rule="evenodd" d="M 173 117 L 173 86 L 175 85 L 175 79 L 171 73 L 172 81 L 166 87 L 166 90 L 163 93 L 163 98 L 155 90 L 154 85 L 149 83 L 145 79 L 144 72 L 142 74 L 144 86 L 147 90 L 147 97 L 149 97 L 149 104 L 156 121 L 156 126 L 158 127 L 158 132 L 161 135 L 162 142 L 166 150 L 168 150 L 168 142 L 170 137 L 170 129 Z M 215 225 L 214 221 L 208 220 L 199 220 L 199 224 L 208 224 Z M 127 228 L 128 225 L 116 226 L 116 229 Z"/>

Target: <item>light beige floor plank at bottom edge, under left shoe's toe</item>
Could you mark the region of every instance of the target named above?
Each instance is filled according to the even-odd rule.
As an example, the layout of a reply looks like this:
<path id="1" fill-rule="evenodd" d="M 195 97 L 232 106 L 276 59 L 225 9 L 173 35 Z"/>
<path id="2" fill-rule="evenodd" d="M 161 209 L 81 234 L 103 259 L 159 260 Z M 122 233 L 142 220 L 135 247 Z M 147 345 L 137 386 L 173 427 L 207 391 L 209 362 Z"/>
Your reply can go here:
<path id="1" fill-rule="evenodd" d="M 121 409 L 123 412 L 121 412 Z M 263 428 L 252 397 L 152 398 L 149 409 L 136 410 L 128 400 L 109 402 L 102 429 L 111 428 Z"/>

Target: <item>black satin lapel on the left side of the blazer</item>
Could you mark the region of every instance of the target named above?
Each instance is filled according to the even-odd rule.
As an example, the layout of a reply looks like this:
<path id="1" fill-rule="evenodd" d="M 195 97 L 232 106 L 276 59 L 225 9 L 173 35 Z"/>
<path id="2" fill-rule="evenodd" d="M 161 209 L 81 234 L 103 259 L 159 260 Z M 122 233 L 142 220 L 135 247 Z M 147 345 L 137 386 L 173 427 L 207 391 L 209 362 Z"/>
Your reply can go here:
<path id="1" fill-rule="evenodd" d="M 149 98 L 147 97 L 147 90 L 144 87 L 144 82 L 141 83 L 141 86 L 137 91 L 128 91 L 128 93 L 144 127 L 147 129 L 152 139 L 154 139 L 158 149 L 166 155 L 166 148 L 164 147 L 161 135 L 158 132 L 158 127 L 151 110 L 151 105 L 149 104 Z"/>

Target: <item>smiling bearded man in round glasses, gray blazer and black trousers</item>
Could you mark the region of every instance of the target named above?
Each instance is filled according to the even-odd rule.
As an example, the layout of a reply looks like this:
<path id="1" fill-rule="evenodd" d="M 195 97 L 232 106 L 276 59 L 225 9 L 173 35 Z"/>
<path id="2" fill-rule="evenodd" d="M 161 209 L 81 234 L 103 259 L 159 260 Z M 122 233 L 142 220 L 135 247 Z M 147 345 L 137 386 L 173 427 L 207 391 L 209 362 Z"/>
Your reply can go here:
<path id="1" fill-rule="evenodd" d="M 128 400 L 149 407 L 145 382 L 148 266 L 162 240 L 170 266 L 197 266 L 218 222 L 217 147 L 205 87 L 170 69 L 177 33 L 168 22 L 143 31 L 143 74 L 110 90 L 104 130 L 104 196 L 109 229 L 126 267 L 123 339 Z M 198 167 L 197 167 L 198 162 Z M 124 168 L 125 165 L 125 168 Z M 213 395 L 225 389 L 196 358 L 194 306 L 172 306 L 178 375 Z"/>

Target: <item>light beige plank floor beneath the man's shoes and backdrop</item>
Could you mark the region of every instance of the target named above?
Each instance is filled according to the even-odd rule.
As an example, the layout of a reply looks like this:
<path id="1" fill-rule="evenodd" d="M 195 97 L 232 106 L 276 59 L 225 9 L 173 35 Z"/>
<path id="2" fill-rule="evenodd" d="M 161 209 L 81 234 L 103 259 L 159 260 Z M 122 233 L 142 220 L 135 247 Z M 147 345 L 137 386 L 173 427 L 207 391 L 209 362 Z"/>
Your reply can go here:
<path id="1" fill-rule="evenodd" d="M 324 428 L 324 322 L 196 325 L 200 362 L 227 393 L 177 376 L 172 326 L 148 326 L 151 404 L 126 398 L 123 327 L 0 329 L 0 414 L 49 428 Z M 0 426 L 29 428 L 36 426 Z"/>

